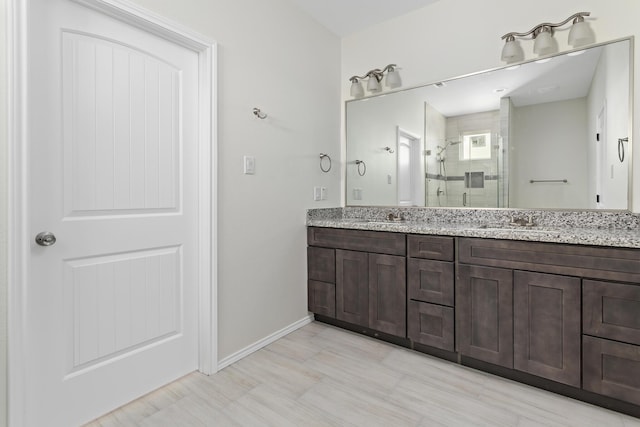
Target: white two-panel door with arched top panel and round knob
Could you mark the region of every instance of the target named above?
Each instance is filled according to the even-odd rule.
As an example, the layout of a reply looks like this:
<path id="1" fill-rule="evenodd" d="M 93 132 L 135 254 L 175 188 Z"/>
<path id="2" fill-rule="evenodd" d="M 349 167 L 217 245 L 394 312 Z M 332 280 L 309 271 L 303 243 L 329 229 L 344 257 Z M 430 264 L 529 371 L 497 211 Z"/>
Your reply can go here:
<path id="1" fill-rule="evenodd" d="M 199 54 L 82 3 L 24 3 L 26 426 L 82 424 L 199 367 Z"/>

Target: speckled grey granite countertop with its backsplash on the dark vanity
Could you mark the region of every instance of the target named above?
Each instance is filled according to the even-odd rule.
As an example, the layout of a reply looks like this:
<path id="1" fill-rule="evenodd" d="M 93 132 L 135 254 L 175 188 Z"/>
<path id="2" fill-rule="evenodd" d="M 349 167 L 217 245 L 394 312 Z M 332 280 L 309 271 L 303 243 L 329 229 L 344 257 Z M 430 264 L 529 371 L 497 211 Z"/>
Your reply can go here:
<path id="1" fill-rule="evenodd" d="M 511 226 L 512 218 L 535 225 Z M 311 209 L 307 226 L 640 248 L 640 215 L 629 212 L 346 207 Z"/>

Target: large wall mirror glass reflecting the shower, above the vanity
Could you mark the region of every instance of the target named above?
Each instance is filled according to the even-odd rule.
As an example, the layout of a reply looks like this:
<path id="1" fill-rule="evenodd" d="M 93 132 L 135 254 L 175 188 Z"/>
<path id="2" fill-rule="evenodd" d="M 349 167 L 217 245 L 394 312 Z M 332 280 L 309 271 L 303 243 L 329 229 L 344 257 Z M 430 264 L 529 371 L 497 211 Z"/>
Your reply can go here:
<path id="1" fill-rule="evenodd" d="M 633 39 L 346 103 L 347 206 L 626 210 Z"/>

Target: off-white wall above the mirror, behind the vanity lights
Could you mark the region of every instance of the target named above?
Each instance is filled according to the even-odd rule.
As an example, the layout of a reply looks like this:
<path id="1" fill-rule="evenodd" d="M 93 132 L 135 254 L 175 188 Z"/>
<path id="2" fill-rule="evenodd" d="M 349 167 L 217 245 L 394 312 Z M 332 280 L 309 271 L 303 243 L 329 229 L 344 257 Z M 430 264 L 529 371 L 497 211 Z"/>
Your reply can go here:
<path id="1" fill-rule="evenodd" d="M 503 41 L 500 37 L 503 34 L 528 31 L 542 22 L 559 22 L 579 11 L 591 12 L 588 22 L 597 41 L 640 36 L 637 25 L 640 2 L 637 0 L 441 0 L 343 38 L 343 98 L 349 99 L 350 76 L 388 63 L 398 64 L 404 87 L 502 66 Z M 555 37 L 561 51 L 568 49 L 567 35 L 568 31 L 563 29 Z M 634 70 L 635 80 L 640 81 L 637 45 L 638 40 Z M 532 59 L 533 42 L 523 41 L 522 46 L 526 59 Z M 640 91 L 635 91 L 634 104 L 637 134 L 640 130 Z M 640 164 L 640 150 L 634 150 L 633 160 Z M 633 210 L 640 212 L 638 174 L 634 184 Z"/>

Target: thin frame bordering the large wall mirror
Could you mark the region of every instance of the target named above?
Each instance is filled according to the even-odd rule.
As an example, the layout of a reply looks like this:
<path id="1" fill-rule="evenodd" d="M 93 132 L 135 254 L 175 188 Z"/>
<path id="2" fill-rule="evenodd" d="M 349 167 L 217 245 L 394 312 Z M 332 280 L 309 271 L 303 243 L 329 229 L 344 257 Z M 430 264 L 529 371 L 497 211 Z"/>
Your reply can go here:
<path id="1" fill-rule="evenodd" d="M 417 208 L 417 209 L 465 209 L 465 210 L 541 210 L 541 211 L 567 211 L 567 212 L 632 212 L 633 209 L 633 175 L 634 175 L 634 159 L 633 159 L 633 118 L 634 118 L 634 94 L 635 94 L 635 88 L 634 88 L 634 81 L 635 81 L 635 58 L 634 58 L 634 52 L 635 52 L 635 37 L 633 35 L 631 36 L 627 36 L 627 37 L 620 37 L 617 39 L 613 39 L 613 40 L 608 40 L 605 42 L 601 42 L 601 43 L 593 43 L 590 44 L 588 46 L 582 46 L 576 49 L 570 49 L 570 50 L 565 50 L 562 52 L 557 52 L 557 53 L 553 53 L 553 54 L 549 54 L 549 55 L 545 55 L 545 56 L 540 56 L 538 58 L 535 59 L 528 59 L 528 60 L 524 60 L 524 61 L 520 61 L 520 62 L 514 62 L 511 64 L 507 64 L 507 65 L 503 65 L 500 67 L 495 67 L 495 68 L 489 68 L 486 70 L 481 70 L 481 71 L 476 71 L 476 72 L 472 72 L 472 73 L 468 73 L 468 74 L 462 74 L 456 77 L 450 77 L 450 78 L 446 78 L 446 79 L 442 79 L 442 80 L 436 80 L 436 81 L 432 81 L 429 83 L 425 83 L 425 84 L 418 84 L 418 85 L 414 85 L 414 86 L 409 86 L 406 88 L 400 88 L 400 89 L 394 89 L 394 90 L 389 90 L 389 91 L 385 91 L 385 92 L 381 92 L 381 93 L 376 93 L 373 95 L 367 95 L 364 96 L 362 98 L 357 98 L 357 99 L 347 99 L 344 101 L 344 140 L 345 140 L 345 146 L 344 146 L 344 152 L 345 152 L 345 157 L 347 155 L 347 145 L 348 145 L 348 141 L 347 141 L 347 129 L 348 129 L 348 125 L 349 125 L 349 121 L 347 119 L 347 104 L 351 103 L 351 102 L 358 102 L 358 101 L 362 101 L 362 100 L 368 100 L 368 99 L 373 99 L 373 98 L 377 98 L 377 97 L 381 97 L 381 96 L 386 96 L 386 95 L 390 95 L 390 94 L 396 94 L 396 93 L 401 93 L 401 92 L 406 92 L 409 90 L 413 90 L 413 89 L 419 89 L 425 86 L 431 86 L 431 85 L 436 85 L 436 84 L 440 84 L 440 83 L 446 83 L 446 82 L 451 82 L 451 81 L 455 81 L 455 80 L 460 80 L 460 79 L 464 79 L 467 77 L 472 77 L 472 76 L 477 76 L 480 74 L 486 74 L 486 73 L 490 73 L 493 71 L 499 71 L 499 70 L 504 70 L 510 67 L 514 67 L 514 66 L 521 66 L 524 64 L 529 64 L 529 63 L 534 63 L 536 61 L 540 61 L 546 58 L 553 58 L 556 56 L 562 56 L 562 55 L 567 55 L 569 53 L 572 52 L 578 52 L 581 50 L 586 50 L 586 49 L 591 49 L 591 48 L 597 48 L 597 47 L 601 47 L 601 46 L 606 46 L 609 44 L 613 44 L 613 43 L 617 43 L 617 42 L 623 42 L 623 41 L 627 41 L 629 42 L 629 117 L 628 117 L 628 144 L 627 144 L 627 155 L 629 156 L 629 166 L 628 166 L 628 172 L 627 172 L 627 179 L 628 179 L 628 183 L 627 183 L 627 209 L 572 209 L 572 208 L 517 208 L 517 207 L 446 207 L 446 206 L 406 206 L 403 207 L 403 209 L 406 208 Z M 347 182 L 347 166 L 350 164 L 350 162 L 348 160 L 345 160 L 344 162 L 344 206 L 346 207 L 368 207 L 368 208 L 387 208 L 387 209 L 393 209 L 393 208 L 398 208 L 399 206 L 397 205 L 349 205 L 347 203 L 347 197 L 348 197 L 348 182 Z"/>

